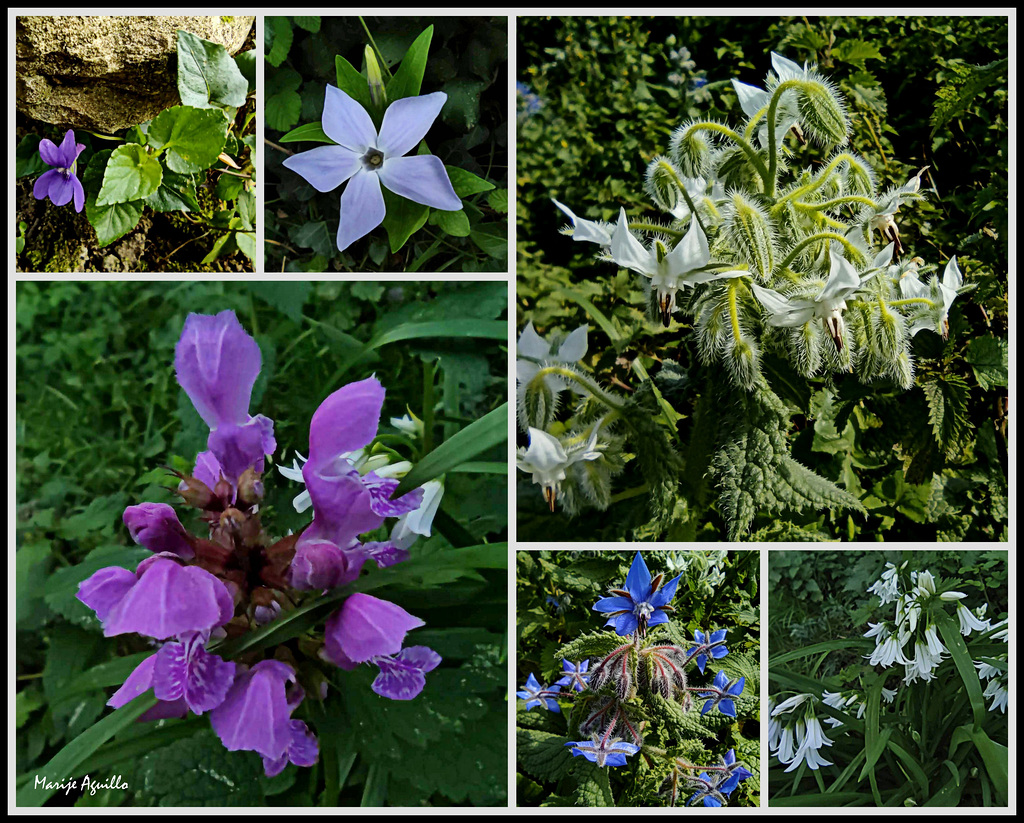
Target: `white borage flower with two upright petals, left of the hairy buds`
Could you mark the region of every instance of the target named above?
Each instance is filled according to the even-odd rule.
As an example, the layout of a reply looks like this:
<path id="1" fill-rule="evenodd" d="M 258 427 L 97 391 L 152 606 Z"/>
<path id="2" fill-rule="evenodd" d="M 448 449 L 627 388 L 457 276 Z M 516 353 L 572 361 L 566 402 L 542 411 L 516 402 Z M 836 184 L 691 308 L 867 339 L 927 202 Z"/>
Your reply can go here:
<path id="1" fill-rule="evenodd" d="M 742 277 L 749 271 L 708 271 L 711 249 L 708 237 L 696 220 L 690 221 L 686 235 L 670 250 L 660 240 L 655 239 L 645 248 L 629 227 L 626 210 L 618 210 L 618 223 L 611 237 L 611 259 L 616 265 L 636 271 L 650 280 L 657 293 L 657 305 L 662 323 L 669 326 L 676 310 L 676 293 L 684 287 L 694 287 L 701 283 Z"/>

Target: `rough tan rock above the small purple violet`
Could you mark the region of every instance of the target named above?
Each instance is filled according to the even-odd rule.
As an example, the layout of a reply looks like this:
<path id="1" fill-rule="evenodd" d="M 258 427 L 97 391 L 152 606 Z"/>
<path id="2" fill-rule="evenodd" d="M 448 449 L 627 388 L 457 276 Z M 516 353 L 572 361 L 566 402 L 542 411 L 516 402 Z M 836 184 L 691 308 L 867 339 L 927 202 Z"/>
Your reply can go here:
<path id="1" fill-rule="evenodd" d="M 178 29 L 224 46 L 254 16 L 17 17 L 17 109 L 58 126 L 115 132 L 177 105 Z"/>

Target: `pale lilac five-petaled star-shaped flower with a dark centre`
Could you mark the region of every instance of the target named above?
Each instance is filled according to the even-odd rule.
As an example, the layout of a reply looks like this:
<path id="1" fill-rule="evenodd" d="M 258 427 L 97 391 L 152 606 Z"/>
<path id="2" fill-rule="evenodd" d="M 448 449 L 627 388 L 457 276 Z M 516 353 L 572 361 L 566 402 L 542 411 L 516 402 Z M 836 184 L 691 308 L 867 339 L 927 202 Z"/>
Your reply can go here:
<path id="1" fill-rule="evenodd" d="M 435 91 L 395 100 L 384 113 L 378 133 L 366 109 L 341 89 L 327 87 L 324 132 L 338 144 L 293 155 L 284 165 L 317 191 L 331 191 L 348 181 L 341 196 L 339 252 L 384 221 L 382 185 L 423 206 L 443 211 L 462 208 L 439 158 L 403 157 L 423 139 L 446 99 L 446 94 Z"/>

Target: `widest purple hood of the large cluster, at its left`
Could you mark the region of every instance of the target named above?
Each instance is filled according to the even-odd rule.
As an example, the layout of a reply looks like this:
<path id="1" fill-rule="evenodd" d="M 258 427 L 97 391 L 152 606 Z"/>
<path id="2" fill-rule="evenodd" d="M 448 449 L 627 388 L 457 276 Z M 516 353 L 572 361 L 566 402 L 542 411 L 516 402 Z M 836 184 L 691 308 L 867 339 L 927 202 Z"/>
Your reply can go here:
<path id="1" fill-rule="evenodd" d="M 134 572 L 99 569 L 76 597 L 96 612 L 103 635 L 130 633 L 163 640 L 207 632 L 234 614 L 234 602 L 217 577 L 199 566 L 181 566 L 173 555 L 154 555 Z"/>

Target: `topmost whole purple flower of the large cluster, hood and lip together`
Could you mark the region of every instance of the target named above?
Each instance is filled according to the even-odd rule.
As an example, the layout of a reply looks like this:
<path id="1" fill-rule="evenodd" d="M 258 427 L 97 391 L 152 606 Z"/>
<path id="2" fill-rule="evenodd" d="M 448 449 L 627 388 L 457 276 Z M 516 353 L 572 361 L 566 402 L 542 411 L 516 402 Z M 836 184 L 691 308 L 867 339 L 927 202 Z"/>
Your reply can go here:
<path id="1" fill-rule="evenodd" d="M 261 357 L 256 341 L 234 312 L 189 314 L 174 348 L 178 383 L 210 427 L 209 451 L 197 459 L 210 488 L 222 476 L 232 486 L 247 469 L 263 471 L 264 454 L 278 448 L 273 421 L 249 416 Z"/>

